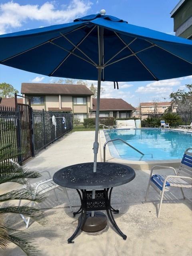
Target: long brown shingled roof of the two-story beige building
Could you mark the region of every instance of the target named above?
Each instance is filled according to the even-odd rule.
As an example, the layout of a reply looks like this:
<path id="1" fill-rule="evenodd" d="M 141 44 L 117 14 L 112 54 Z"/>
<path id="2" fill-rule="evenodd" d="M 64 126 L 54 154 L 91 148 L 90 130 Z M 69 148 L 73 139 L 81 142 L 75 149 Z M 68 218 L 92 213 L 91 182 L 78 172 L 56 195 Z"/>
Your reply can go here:
<path id="1" fill-rule="evenodd" d="M 85 85 L 79 84 L 38 84 L 22 83 L 21 93 L 24 94 L 65 94 L 65 95 L 93 95 Z"/>

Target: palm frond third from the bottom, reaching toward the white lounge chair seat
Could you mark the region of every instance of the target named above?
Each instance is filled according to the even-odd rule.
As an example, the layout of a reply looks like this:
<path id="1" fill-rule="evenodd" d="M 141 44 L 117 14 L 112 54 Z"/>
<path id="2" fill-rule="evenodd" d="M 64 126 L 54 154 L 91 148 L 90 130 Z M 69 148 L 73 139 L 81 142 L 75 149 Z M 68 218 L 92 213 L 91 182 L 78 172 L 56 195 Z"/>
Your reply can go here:
<path id="1" fill-rule="evenodd" d="M 21 188 L 18 190 L 12 190 L 6 194 L 0 195 L 0 202 L 5 202 L 8 200 L 30 200 L 34 202 L 43 202 L 45 196 L 42 194 L 35 193 L 31 188 Z"/>

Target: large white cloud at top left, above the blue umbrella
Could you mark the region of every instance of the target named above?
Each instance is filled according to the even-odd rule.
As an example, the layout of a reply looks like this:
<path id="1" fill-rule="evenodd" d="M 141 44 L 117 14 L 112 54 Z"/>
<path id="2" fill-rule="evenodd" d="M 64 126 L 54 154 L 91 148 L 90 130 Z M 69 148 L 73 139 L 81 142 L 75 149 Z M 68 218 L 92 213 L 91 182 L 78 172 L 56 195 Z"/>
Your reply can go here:
<path id="1" fill-rule="evenodd" d="M 70 22 L 90 10 L 92 2 L 89 0 L 71 0 L 68 5 L 56 9 L 56 2 L 46 2 L 40 5 L 21 5 L 14 1 L 0 4 L 0 34 L 12 28 L 20 28 L 28 20 L 59 24 Z"/>

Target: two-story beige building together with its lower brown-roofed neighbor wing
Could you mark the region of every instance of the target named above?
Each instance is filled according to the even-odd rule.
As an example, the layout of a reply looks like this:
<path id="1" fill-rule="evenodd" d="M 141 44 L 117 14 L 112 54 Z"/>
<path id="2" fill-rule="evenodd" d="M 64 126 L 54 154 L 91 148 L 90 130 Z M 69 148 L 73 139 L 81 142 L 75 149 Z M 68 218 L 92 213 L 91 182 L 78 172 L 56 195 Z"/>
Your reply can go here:
<path id="1" fill-rule="evenodd" d="M 31 99 L 36 110 L 70 112 L 83 122 L 84 118 L 95 117 L 96 99 L 85 85 L 22 83 L 21 93 Z M 23 98 L 23 103 L 28 103 Z M 100 116 L 115 118 L 130 117 L 135 108 L 122 99 L 100 99 Z"/>

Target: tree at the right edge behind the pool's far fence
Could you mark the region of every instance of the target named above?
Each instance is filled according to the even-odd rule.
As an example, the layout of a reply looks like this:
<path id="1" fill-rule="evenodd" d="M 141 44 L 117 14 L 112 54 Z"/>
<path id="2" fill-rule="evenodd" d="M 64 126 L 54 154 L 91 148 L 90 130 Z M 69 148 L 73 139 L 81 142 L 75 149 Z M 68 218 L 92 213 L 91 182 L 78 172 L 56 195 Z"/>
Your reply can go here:
<path id="1" fill-rule="evenodd" d="M 171 107 L 169 111 L 172 111 L 175 105 L 178 105 L 177 112 L 192 111 L 192 84 L 186 84 L 186 90 L 177 90 L 170 94 Z"/>

